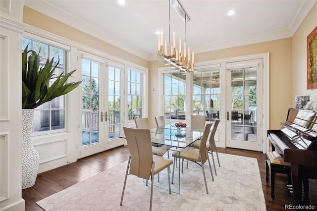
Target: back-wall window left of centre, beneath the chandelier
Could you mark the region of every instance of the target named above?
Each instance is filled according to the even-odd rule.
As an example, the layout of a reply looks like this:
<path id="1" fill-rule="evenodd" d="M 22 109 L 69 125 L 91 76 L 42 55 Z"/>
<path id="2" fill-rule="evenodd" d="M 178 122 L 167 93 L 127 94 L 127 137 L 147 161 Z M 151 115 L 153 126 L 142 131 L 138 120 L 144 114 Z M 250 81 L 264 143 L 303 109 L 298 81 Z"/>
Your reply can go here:
<path id="1" fill-rule="evenodd" d="M 164 73 L 164 116 L 186 119 L 186 72 Z"/>

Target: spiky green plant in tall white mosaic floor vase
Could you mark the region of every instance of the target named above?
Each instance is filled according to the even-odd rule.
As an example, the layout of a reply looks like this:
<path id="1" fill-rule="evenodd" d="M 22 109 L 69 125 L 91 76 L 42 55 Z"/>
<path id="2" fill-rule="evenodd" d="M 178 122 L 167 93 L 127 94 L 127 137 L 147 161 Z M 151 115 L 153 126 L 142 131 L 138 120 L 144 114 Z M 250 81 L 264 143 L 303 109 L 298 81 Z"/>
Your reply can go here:
<path id="1" fill-rule="evenodd" d="M 54 74 L 59 58 L 54 66 L 53 59 L 51 61 L 47 59 L 40 67 L 40 52 L 28 50 L 28 46 L 22 52 L 22 189 L 35 184 L 40 165 L 39 154 L 31 140 L 34 108 L 71 92 L 81 83 L 81 81 L 66 83 L 76 70 L 65 75 Z M 50 86 L 51 79 L 54 79 L 54 82 Z"/>

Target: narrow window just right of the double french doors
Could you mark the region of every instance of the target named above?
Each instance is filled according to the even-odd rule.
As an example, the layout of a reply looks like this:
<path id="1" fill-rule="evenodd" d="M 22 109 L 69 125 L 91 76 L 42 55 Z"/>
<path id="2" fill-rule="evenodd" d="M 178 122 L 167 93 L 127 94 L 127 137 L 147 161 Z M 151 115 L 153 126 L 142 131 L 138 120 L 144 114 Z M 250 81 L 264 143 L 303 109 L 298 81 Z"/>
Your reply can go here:
<path id="1" fill-rule="evenodd" d="M 128 121 L 142 118 L 143 73 L 128 70 Z"/>

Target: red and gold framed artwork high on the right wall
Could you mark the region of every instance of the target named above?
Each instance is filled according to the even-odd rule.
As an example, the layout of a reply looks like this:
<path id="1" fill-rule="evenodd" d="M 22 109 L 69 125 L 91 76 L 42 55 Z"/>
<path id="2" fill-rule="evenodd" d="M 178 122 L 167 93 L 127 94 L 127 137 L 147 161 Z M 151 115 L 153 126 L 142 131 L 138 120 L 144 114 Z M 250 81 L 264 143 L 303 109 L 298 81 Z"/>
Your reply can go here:
<path id="1" fill-rule="evenodd" d="M 317 88 L 317 26 L 307 36 L 307 89 Z"/>

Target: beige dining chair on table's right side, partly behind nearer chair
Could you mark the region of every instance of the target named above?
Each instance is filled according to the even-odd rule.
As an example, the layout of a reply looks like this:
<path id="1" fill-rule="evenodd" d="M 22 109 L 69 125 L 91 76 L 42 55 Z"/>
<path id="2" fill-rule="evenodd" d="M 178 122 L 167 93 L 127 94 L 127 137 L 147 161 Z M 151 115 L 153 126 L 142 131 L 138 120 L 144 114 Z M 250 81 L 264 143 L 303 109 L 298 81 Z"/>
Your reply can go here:
<path id="1" fill-rule="evenodd" d="M 215 175 L 217 175 L 217 171 L 216 171 L 216 166 L 215 166 L 215 163 L 214 163 L 213 152 L 216 153 L 218 164 L 219 164 L 219 167 L 220 167 L 220 161 L 219 161 L 219 157 L 218 157 L 218 152 L 217 152 L 216 144 L 214 142 L 214 134 L 217 131 L 217 127 L 218 127 L 219 122 L 220 122 L 220 119 L 211 119 L 212 129 L 211 129 L 209 141 L 207 141 L 207 144 L 206 144 L 207 151 L 211 154 L 213 168 L 214 168 L 214 174 Z M 194 148 L 198 149 L 199 146 L 200 146 L 200 142 L 201 142 L 201 140 L 197 140 L 193 144 L 191 144 L 190 147 L 194 147 Z M 188 167 L 188 162 L 187 162 L 187 167 Z"/>

